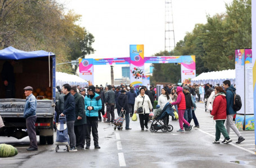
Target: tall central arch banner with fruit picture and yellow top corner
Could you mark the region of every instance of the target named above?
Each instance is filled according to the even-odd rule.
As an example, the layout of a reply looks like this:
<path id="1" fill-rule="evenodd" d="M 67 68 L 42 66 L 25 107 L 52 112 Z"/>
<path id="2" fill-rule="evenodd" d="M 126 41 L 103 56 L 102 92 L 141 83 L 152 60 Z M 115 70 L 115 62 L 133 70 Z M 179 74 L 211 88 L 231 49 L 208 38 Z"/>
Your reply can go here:
<path id="1" fill-rule="evenodd" d="M 130 79 L 133 86 L 142 85 L 145 74 L 144 68 L 144 45 L 130 45 Z"/>

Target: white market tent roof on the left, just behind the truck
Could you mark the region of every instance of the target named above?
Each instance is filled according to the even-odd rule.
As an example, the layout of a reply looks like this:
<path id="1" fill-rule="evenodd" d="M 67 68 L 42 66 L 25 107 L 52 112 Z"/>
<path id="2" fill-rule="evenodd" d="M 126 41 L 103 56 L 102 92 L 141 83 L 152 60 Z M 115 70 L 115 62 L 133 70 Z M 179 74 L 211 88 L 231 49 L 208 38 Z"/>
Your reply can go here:
<path id="1" fill-rule="evenodd" d="M 62 87 L 65 83 L 69 85 L 79 85 L 80 87 L 88 86 L 88 82 L 82 78 L 64 72 L 56 72 L 56 86 Z"/>

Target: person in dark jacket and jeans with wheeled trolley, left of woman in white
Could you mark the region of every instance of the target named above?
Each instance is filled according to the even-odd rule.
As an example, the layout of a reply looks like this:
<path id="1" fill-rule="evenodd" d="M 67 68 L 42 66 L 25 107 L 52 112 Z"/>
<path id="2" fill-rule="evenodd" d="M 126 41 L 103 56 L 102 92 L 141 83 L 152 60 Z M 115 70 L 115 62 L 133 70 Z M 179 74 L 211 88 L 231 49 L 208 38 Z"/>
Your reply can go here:
<path id="1" fill-rule="evenodd" d="M 132 129 L 132 128 L 129 128 L 129 122 L 130 122 L 130 119 L 129 119 L 129 107 L 128 107 L 128 97 L 127 95 L 125 95 L 125 90 L 121 90 L 121 95 L 118 97 L 118 101 L 116 102 L 116 106 L 118 107 L 118 109 L 121 109 L 121 111 L 118 113 L 118 115 L 120 116 L 120 113 L 122 111 L 125 110 L 125 129 Z M 121 117 L 124 117 L 123 115 Z"/>

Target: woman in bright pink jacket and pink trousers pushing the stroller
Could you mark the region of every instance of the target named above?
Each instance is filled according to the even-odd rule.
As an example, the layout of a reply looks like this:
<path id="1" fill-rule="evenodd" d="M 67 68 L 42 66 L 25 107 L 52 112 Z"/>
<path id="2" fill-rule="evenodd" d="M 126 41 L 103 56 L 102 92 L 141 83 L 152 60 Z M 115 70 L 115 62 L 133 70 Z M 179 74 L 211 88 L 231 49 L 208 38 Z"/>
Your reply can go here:
<path id="1" fill-rule="evenodd" d="M 185 123 L 188 126 L 188 129 L 191 130 L 192 129 L 192 125 L 190 125 L 190 123 L 188 123 L 185 119 L 184 119 L 184 113 L 186 110 L 186 100 L 185 100 L 185 95 L 182 92 L 182 87 L 178 86 L 177 87 L 177 100 L 175 102 L 172 102 L 172 105 L 178 105 L 178 116 L 179 116 L 179 127 L 180 129 L 177 130 L 177 132 L 185 132 L 183 129 L 183 123 Z"/>

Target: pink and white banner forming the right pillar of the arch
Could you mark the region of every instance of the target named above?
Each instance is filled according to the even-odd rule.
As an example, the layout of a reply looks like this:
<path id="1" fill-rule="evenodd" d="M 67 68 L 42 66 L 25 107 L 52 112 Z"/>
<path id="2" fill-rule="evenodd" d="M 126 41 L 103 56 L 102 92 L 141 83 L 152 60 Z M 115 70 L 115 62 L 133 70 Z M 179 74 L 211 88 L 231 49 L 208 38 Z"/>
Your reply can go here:
<path id="1" fill-rule="evenodd" d="M 191 79 L 196 77 L 196 57 L 195 55 L 186 55 L 181 58 L 181 82 L 189 84 Z"/>

